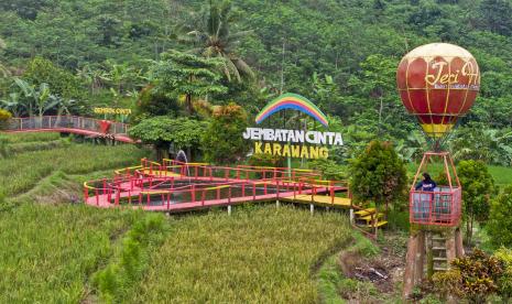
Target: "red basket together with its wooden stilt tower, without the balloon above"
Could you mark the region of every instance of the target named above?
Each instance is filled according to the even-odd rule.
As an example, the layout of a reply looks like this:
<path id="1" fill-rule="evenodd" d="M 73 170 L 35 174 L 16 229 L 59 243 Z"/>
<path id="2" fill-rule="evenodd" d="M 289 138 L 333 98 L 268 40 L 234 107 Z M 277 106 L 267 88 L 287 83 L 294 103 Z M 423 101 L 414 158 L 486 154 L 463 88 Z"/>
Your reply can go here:
<path id="1" fill-rule="evenodd" d="M 443 185 L 434 192 L 416 191 L 416 182 L 422 172 L 427 172 L 432 159 L 440 159 L 446 178 L 438 181 Z M 461 186 L 450 154 L 426 152 L 410 191 L 411 236 L 405 261 L 404 298 L 408 298 L 414 286 L 425 278 L 448 270 L 453 260 L 464 256 L 460 216 Z"/>

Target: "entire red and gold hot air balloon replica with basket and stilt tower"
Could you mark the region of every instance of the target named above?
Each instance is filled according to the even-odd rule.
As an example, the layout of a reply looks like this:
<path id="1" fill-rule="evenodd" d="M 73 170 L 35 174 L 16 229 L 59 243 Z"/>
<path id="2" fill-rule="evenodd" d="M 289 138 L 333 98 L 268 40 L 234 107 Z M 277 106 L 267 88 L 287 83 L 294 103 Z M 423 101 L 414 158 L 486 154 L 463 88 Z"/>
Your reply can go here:
<path id="1" fill-rule="evenodd" d="M 404 296 L 407 297 L 414 285 L 423 280 L 425 262 L 427 274 L 432 275 L 464 254 L 458 227 L 461 186 L 449 153 L 440 151 L 440 146 L 473 105 L 480 88 L 480 73 L 475 57 L 465 48 L 432 43 L 414 48 L 402 58 L 396 83 L 403 105 L 416 117 L 432 143 L 432 151 L 424 153 L 410 192 L 410 222 L 414 232 L 407 243 L 404 275 Z M 432 159 L 440 160 L 447 183 L 432 192 L 416 189 Z"/>

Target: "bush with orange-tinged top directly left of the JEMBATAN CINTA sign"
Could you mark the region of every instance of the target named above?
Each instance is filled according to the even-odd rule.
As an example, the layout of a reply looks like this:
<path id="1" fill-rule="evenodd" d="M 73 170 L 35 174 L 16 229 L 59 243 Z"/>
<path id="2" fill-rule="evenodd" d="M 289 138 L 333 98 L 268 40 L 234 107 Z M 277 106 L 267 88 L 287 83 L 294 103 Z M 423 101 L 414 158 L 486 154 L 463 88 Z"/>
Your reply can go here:
<path id="1" fill-rule="evenodd" d="M 205 160 L 220 164 L 239 162 L 249 151 L 249 144 L 242 137 L 247 126 L 247 113 L 242 107 L 230 102 L 215 109 L 203 135 Z"/>

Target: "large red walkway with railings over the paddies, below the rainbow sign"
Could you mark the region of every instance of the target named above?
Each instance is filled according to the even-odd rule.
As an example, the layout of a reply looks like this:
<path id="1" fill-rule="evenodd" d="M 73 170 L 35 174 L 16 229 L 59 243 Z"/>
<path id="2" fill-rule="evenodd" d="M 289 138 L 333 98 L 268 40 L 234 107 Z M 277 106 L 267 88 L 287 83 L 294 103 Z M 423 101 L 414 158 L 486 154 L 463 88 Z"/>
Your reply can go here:
<path id="1" fill-rule="evenodd" d="M 172 205 L 179 204 L 206 206 L 216 202 L 217 205 L 229 205 L 279 199 L 284 195 L 295 198 L 303 194 L 311 195 L 312 202 L 317 195 L 329 196 L 334 204 L 337 191 L 348 192 L 345 181 L 319 177 L 318 172 L 308 170 L 211 166 L 172 160 L 160 164 L 143 159 L 139 166 L 116 171 L 113 178 L 86 182 L 84 197 L 88 204 L 97 206 L 127 203 L 151 208 L 154 207 L 152 202 L 157 200 L 160 209 L 168 210 Z"/>

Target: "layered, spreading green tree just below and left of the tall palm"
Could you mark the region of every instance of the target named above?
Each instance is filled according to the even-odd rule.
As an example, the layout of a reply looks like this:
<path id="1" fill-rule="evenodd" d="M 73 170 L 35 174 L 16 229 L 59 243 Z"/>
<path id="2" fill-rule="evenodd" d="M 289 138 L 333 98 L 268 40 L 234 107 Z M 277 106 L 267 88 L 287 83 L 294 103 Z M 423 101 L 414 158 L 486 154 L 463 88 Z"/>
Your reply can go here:
<path id="1" fill-rule="evenodd" d="M 156 94 L 178 100 L 189 116 L 205 105 L 210 94 L 224 94 L 220 76 L 215 69 L 221 64 L 217 58 L 200 58 L 192 54 L 171 51 L 162 55 L 152 68 Z"/>

